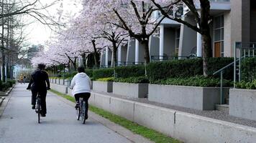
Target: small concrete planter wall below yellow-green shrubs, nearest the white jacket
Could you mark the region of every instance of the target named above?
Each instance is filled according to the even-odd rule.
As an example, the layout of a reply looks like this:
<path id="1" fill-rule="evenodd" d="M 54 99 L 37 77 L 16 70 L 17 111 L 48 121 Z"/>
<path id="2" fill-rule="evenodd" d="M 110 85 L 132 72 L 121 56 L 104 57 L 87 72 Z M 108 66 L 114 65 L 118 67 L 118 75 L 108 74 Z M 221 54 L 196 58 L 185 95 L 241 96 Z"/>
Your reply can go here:
<path id="1" fill-rule="evenodd" d="M 112 92 L 113 82 L 93 81 L 93 90 L 96 92 Z"/>

